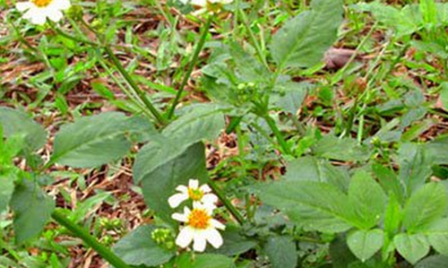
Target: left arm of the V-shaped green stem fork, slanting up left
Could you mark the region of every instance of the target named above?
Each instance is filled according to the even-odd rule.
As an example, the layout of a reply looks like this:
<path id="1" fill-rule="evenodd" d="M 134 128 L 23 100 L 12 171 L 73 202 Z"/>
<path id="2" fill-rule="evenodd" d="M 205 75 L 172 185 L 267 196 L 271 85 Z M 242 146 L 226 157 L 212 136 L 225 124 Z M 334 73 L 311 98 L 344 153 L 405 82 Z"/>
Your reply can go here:
<path id="1" fill-rule="evenodd" d="M 110 59 L 112 60 L 112 63 L 114 63 L 114 65 L 116 65 L 118 72 L 121 73 L 121 75 L 123 75 L 123 77 L 125 78 L 125 81 L 129 83 L 129 85 L 135 91 L 135 93 L 137 94 L 139 99 L 142 100 L 142 102 L 146 106 L 146 108 L 148 108 L 151 111 L 152 116 L 154 116 L 156 118 L 156 120 L 159 122 L 160 125 L 165 125 L 165 119 L 160 115 L 157 108 L 155 108 L 152 105 L 150 99 L 148 99 L 146 97 L 145 92 L 139 88 L 137 83 L 132 78 L 131 74 L 129 74 L 125 70 L 125 67 L 121 64 L 120 60 L 115 56 L 114 51 L 108 45 L 105 45 L 104 49 L 105 49 L 106 53 L 108 54 L 108 56 L 110 57 Z"/>

